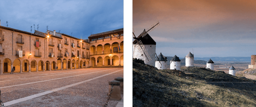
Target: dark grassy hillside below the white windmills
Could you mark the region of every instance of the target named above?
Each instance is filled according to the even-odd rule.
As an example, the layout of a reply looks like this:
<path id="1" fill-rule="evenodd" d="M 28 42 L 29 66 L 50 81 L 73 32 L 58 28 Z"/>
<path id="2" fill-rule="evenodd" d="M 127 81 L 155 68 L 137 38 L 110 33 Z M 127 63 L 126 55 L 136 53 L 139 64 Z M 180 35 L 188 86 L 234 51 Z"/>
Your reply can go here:
<path id="1" fill-rule="evenodd" d="M 133 106 L 256 106 L 254 80 L 203 67 L 157 70 L 137 59 L 132 65 Z"/>

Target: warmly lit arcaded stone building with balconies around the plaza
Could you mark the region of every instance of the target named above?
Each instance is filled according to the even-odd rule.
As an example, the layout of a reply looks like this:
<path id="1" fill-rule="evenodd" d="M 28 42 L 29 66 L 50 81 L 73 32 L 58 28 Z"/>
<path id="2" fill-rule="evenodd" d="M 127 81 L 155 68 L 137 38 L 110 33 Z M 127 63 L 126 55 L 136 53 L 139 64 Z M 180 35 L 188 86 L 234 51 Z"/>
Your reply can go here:
<path id="1" fill-rule="evenodd" d="M 110 34 L 114 33 L 111 32 Z M 121 36 L 118 35 L 120 38 L 113 38 L 112 36 L 112 38 L 104 39 L 104 42 L 97 40 L 97 43 L 105 43 L 103 45 L 106 45 L 106 52 L 111 50 L 107 49 L 107 44 L 110 44 L 110 47 L 120 45 L 118 53 L 112 50 L 110 58 L 114 59 L 114 63 L 121 59 L 122 63 L 119 60 L 118 65 L 123 65 L 123 29 L 118 34 L 121 34 Z M 92 36 L 95 37 L 94 35 L 90 37 Z M 90 50 L 90 47 L 97 43 L 89 40 L 57 33 L 55 30 L 45 33 L 35 30 L 35 33 L 30 33 L 4 27 L 0 23 L 0 74 L 11 72 L 11 70 L 14 72 L 31 72 L 81 69 L 94 66 L 95 64 L 92 63 L 95 63 L 95 53 L 90 53 L 94 52 L 93 48 Z M 103 57 L 106 54 L 99 56 L 106 58 Z M 102 65 L 104 65 L 104 61 Z M 118 66 L 116 63 L 111 65 Z"/>

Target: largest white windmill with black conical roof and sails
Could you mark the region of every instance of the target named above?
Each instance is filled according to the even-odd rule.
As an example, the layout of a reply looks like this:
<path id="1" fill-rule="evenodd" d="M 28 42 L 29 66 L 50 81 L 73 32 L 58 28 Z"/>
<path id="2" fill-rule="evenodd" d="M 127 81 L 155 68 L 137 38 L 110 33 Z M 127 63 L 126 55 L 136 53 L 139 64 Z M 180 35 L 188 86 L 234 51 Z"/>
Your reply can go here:
<path id="1" fill-rule="evenodd" d="M 155 66 L 155 52 L 156 52 L 156 42 L 149 36 L 148 32 L 159 26 L 157 21 L 155 24 L 151 25 L 149 29 L 145 30 L 136 37 L 133 30 L 133 58 L 144 60 L 145 64 Z"/>

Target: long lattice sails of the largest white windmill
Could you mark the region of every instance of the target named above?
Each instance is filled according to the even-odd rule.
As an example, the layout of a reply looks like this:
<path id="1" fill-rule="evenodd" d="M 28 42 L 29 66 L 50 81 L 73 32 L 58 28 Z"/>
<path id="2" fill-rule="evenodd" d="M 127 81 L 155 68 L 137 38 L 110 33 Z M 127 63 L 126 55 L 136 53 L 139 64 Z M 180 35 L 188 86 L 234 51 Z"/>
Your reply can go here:
<path id="1" fill-rule="evenodd" d="M 144 57 L 143 58 L 144 59 L 144 63 L 148 63 L 148 61 L 150 61 L 151 58 L 150 58 L 149 53 L 145 49 L 143 42 L 141 42 L 141 38 L 143 38 L 144 36 L 148 35 L 148 33 L 150 31 L 154 30 L 159 25 L 160 25 L 159 21 L 155 22 L 155 24 L 151 25 L 147 30 L 144 29 L 144 31 L 142 33 L 140 33 L 140 35 L 138 37 L 135 36 L 134 30 L 133 30 L 133 36 L 134 36 L 133 38 L 135 40 L 135 44 L 138 44 L 138 45 L 134 46 L 134 49 L 135 49 L 135 47 L 139 46 L 140 49 L 138 49 L 138 50 L 139 50 L 139 53 L 141 55 L 143 55 L 143 57 Z M 135 51 L 133 51 L 133 55 L 134 55 L 134 53 L 135 53 Z"/>

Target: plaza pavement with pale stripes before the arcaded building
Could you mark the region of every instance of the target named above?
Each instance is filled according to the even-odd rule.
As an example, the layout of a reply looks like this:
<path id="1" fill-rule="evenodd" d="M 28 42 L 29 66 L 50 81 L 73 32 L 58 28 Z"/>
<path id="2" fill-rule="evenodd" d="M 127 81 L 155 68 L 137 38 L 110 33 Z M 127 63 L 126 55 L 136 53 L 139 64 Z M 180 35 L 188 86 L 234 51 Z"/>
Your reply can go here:
<path id="1" fill-rule="evenodd" d="M 108 81 L 116 77 L 123 77 L 122 67 L 4 74 L 0 90 L 7 106 L 103 106 Z"/>

